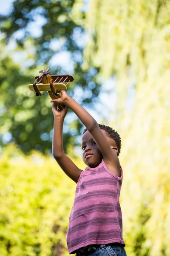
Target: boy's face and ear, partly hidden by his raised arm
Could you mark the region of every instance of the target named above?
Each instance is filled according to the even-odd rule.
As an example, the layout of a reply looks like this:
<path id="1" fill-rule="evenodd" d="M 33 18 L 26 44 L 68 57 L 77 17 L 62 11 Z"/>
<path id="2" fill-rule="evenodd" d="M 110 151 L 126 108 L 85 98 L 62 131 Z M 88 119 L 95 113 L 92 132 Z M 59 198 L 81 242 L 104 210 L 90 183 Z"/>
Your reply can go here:
<path id="1" fill-rule="evenodd" d="M 102 130 L 102 133 L 105 135 L 110 146 L 116 144 L 113 139 L 108 137 L 105 130 Z M 82 136 L 82 159 L 84 163 L 91 168 L 98 166 L 103 159 L 102 152 L 88 131 L 86 131 Z"/>

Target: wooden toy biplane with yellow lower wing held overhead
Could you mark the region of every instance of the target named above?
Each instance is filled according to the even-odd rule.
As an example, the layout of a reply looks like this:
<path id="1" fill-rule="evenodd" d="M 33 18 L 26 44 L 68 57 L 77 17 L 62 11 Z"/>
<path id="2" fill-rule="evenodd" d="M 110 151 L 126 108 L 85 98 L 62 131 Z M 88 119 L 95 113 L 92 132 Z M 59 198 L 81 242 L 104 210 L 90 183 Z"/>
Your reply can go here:
<path id="1" fill-rule="evenodd" d="M 49 75 L 48 72 L 50 68 L 47 70 L 40 70 L 39 73 L 42 73 L 40 76 L 35 77 L 35 81 L 33 84 L 29 84 L 28 88 L 35 92 L 36 96 L 41 96 L 40 91 L 47 91 L 51 99 L 58 99 L 60 97 L 60 91 L 67 89 L 67 84 L 69 82 L 74 81 L 74 78 L 70 75 Z M 64 108 L 63 105 L 57 106 L 62 110 Z"/>

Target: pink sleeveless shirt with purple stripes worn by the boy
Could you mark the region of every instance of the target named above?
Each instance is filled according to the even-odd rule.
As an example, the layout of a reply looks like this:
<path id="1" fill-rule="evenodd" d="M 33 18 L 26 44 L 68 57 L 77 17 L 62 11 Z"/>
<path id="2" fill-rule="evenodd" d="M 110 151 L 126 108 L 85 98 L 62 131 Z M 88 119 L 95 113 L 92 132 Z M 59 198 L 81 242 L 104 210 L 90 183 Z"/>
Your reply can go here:
<path id="1" fill-rule="evenodd" d="M 108 170 L 104 160 L 96 168 L 86 167 L 77 182 L 68 224 L 69 254 L 89 244 L 121 243 L 122 211 L 119 204 L 121 177 Z"/>

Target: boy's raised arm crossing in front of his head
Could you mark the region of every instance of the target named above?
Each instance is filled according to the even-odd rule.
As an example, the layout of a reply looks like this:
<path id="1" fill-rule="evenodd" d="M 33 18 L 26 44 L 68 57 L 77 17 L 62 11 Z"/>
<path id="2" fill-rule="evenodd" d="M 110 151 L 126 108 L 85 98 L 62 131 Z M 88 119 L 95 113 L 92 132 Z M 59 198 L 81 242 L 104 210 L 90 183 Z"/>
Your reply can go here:
<path id="1" fill-rule="evenodd" d="M 51 102 L 59 102 L 71 108 L 72 111 L 78 116 L 81 122 L 85 125 L 88 131 L 91 133 L 94 141 L 98 145 L 100 151 L 102 152 L 104 161 L 108 169 L 115 173 L 117 176 L 120 175 L 120 164 L 119 158 L 116 154 L 116 148 L 114 150 L 108 143 L 105 135 L 99 128 L 96 120 L 86 111 L 82 106 L 80 106 L 74 99 L 68 96 L 65 91 L 61 91 L 62 95 L 59 99 L 51 100 Z"/>

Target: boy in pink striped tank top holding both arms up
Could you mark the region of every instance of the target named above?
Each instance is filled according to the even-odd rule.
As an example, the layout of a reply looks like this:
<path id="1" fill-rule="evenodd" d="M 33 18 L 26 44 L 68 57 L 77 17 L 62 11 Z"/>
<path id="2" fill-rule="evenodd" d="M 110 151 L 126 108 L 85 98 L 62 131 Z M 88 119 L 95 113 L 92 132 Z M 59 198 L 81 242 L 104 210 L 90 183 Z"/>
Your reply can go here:
<path id="1" fill-rule="evenodd" d="M 118 158 L 119 134 L 104 125 L 99 126 L 65 91 L 61 91 L 61 98 L 51 102 L 54 113 L 53 156 L 65 174 L 77 183 L 68 225 L 69 254 L 126 256 L 119 204 L 123 176 Z M 65 108 L 57 111 L 55 103 L 65 105 Z M 85 171 L 79 169 L 63 151 L 62 127 L 68 108 L 86 127 L 82 136 L 82 158 L 88 166 Z M 107 129 L 114 131 L 115 139 Z"/>

